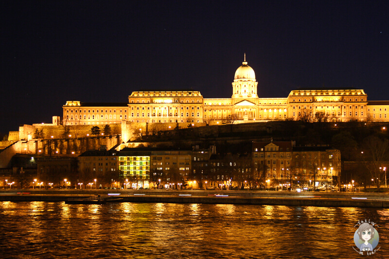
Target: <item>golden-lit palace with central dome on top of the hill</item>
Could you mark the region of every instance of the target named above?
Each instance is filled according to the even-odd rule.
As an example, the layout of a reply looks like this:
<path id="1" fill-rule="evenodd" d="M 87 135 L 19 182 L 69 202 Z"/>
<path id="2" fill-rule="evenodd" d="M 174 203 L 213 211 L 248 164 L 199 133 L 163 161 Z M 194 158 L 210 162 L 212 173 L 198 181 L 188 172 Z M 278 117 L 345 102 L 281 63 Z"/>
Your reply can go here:
<path id="1" fill-rule="evenodd" d="M 368 101 L 363 89 L 299 88 L 288 97 L 260 98 L 254 70 L 246 62 L 238 67 L 231 98 L 204 98 L 191 89 L 132 92 L 128 102 L 67 101 L 67 125 L 138 123 L 193 123 L 195 125 L 269 120 L 320 119 L 334 122 L 388 121 L 389 101 Z"/>

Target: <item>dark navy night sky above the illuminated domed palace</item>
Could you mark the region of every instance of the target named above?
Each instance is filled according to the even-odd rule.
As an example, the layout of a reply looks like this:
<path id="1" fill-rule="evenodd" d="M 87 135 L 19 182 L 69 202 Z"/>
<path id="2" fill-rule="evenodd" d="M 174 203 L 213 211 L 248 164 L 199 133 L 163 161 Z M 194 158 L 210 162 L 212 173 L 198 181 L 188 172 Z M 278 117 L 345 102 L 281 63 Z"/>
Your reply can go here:
<path id="1" fill-rule="evenodd" d="M 372 0 L 3 0 L 0 132 L 139 89 L 231 97 L 244 53 L 259 97 L 324 85 L 389 100 L 388 16 Z"/>

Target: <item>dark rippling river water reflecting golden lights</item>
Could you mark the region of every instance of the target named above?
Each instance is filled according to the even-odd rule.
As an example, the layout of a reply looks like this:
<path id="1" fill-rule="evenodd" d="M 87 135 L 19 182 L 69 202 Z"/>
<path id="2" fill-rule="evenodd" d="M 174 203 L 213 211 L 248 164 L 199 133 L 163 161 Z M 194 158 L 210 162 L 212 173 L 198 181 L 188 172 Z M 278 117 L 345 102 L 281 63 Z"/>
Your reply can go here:
<path id="1" fill-rule="evenodd" d="M 371 219 L 380 249 L 354 251 Z M 1 258 L 389 258 L 389 210 L 0 202 Z"/>

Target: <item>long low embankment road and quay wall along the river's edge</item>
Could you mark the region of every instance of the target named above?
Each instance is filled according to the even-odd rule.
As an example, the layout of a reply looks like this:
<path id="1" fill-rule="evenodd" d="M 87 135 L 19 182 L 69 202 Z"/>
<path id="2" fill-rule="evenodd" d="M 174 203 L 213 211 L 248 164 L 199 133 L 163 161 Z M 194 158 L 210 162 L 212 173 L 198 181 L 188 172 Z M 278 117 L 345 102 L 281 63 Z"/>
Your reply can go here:
<path id="1" fill-rule="evenodd" d="M 103 195 L 109 202 L 204 203 L 281 206 L 389 208 L 388 194 L 261 191 L 160 191 L 160 190 L 2 190 L 0 201 L 64 202 Z M 113 199 L 113 197 L 115 199 Z"/>

